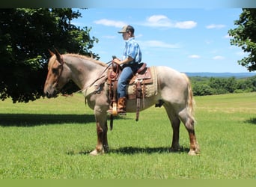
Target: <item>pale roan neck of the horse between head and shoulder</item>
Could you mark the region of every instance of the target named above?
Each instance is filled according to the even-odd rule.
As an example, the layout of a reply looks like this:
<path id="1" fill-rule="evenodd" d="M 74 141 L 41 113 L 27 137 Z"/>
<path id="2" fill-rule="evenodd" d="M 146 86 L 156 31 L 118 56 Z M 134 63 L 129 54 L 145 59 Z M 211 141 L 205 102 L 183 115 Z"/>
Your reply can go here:
<path id="1" fill-rule="evenodd" d="M 76 57 L 68 57 L 66 64 L 70 68 L 71 79 L 81 89 L 91 85 L 98 79 L 105 68 L 90 60 Z"/>

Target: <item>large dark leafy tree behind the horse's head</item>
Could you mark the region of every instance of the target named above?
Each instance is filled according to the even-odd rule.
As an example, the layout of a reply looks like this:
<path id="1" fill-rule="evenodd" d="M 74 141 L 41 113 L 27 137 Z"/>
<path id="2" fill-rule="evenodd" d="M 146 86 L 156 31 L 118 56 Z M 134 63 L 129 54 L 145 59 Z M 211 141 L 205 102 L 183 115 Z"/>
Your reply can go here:
<path id="1" fill-rule="evenodd" d="M 28 102 L 43 96 L 48 49 L 99 58 L 91 52 L 98 42 L 91 28 L 70 24 L 78 17 L 71 8 L 0 9 L 0 99 Z"/>

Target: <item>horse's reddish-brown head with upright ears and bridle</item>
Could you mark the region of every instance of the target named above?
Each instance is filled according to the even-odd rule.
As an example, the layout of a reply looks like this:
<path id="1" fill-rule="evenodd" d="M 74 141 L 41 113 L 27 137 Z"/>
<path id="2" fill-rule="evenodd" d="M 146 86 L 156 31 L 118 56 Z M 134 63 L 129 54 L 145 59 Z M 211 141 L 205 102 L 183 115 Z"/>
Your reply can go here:
<path id="1" fill-rule="evenodd" d="M 64 70 L 64 61 L 61 54 L 55 49 L 55 54 L 49 51 L 52 57 L 48 63 L 48 74 L 43 92 L 48 98 L 55 97 L 58 91 L 64 87 L 68 79 Z"/>

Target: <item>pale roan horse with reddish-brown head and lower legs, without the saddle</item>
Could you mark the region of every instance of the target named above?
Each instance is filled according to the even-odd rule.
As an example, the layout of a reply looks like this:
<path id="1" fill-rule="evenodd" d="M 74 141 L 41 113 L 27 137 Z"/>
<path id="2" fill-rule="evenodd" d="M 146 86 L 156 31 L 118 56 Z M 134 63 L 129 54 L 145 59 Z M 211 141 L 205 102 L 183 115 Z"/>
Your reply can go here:
<path id="1" fill-rule="evenodd" d="M 56 49 L 50 52 L 48 61 L 48 73 L 44 84 L 43 92 L 46 97 L 57 96 L 64 85 L 72 80 L 84 93 L 85 101 L 94 110 L 97 129 L 97 145 L 91 151 L 91 155 L 97 156 L 109 152 L 107 138 L 109 96 L 104 86 L 108 64 L 79 54 L 61 55 Z M 170 152 L 180 150 L 180 121 L 189 133 L 189 155 L 200 154 L 199 145 L 195 137 L 195 117 L 192 87 L 189 78 L 185 73 L 180 73 L 171 67 L 156 66 L 157 93 L 144 98 L 144 107 L 147 109 L 161 101 L 168 114 L 173 129 Z M 100 86 L 101 85 L 101 86 Z M 94 91 L 97 87 L 97 91 Z M 86 103 L 86 102 L 85 102 Z M 127 112 L 135 112 L 134 100 L 127 100 Z M 156 122 L 157 123 L 157 122 Z"/>

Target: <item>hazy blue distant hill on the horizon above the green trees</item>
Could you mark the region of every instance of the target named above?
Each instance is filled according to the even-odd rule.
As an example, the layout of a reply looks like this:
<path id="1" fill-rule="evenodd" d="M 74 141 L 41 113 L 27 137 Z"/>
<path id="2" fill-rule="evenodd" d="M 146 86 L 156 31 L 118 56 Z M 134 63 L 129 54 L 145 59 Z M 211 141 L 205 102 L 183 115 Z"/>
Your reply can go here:
<path id="1" fill-rule="evenodd" d="M 202 73 L 186 73 L 187 76 L 206 76 L 206 77 L 236 77 L 236 78 L 245 78 L 245 77 L 251 77 L 256 76 L 256 73 L 208 73 L 208 72 L 202 72 Z"/>

